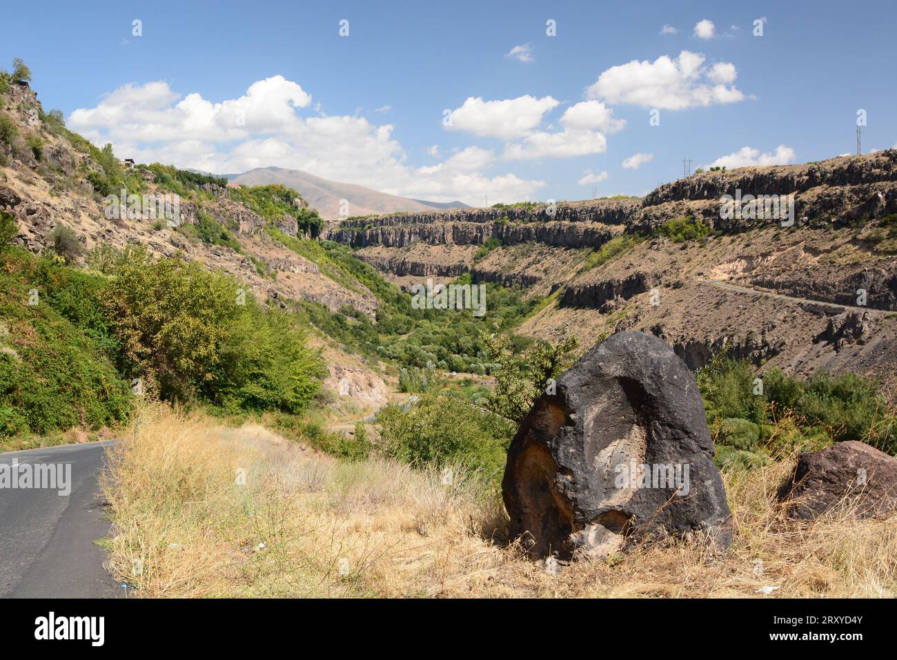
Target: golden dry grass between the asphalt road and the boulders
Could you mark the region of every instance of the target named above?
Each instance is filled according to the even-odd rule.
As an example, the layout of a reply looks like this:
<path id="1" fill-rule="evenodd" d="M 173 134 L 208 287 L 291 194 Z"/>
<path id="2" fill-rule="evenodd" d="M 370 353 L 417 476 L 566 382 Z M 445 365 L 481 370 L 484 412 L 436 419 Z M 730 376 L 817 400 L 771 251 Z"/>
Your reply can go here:
<path id="1" fill-rule="evenodd" d="M 497 494 L 457 475 L 447 486 L 395 462 L 338 462 L 161 406 L 142 410 L 115 452 L 110 564 L 144 596 L 897 593 L 897 519 L 785 520 L 774 494 L 788 462 L 724 475 L 736 526 L 724 556 L 700 540 L 655 541 L 552 575 L 502 542 Z"/>

